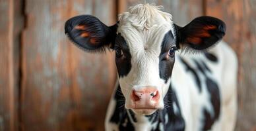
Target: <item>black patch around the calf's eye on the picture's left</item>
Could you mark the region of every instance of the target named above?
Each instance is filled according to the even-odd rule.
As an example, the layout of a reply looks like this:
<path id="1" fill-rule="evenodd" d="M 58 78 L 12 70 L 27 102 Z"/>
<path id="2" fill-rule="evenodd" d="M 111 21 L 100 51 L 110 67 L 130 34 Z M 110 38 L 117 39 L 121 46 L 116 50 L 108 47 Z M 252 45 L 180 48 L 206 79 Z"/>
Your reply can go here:
<path id="1" fill-rule="evenodd" d="M 115 57 L 115 64 L 117 66 L 117 72 L 119 77 L 125 77 L 131 71 L 131 52 L 125 39 L 119 33 L 115 38 L 115 47 L 121 48 L 123 56 L 120 58 Z"/>

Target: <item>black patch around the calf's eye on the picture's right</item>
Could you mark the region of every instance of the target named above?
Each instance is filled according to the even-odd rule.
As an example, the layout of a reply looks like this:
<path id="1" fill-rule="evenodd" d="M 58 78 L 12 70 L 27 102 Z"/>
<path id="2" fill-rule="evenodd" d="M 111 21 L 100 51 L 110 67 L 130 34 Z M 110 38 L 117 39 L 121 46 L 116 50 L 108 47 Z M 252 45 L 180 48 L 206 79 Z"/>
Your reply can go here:
<path id="1" fill-rule="evenodd" d="M 159 75 L 161 79 L 164 79 L 165 83 L 167 83 L 168 79 L 172 75 L 172 68 L 174 67 L 175 58 L 168 56 L 168 51 L 171 47 L 175 46 L 174 35 L 172 35 L 172 31 L 168 31 L 164 36 L 161 45 L 161 53 L 159 56 Z"/>

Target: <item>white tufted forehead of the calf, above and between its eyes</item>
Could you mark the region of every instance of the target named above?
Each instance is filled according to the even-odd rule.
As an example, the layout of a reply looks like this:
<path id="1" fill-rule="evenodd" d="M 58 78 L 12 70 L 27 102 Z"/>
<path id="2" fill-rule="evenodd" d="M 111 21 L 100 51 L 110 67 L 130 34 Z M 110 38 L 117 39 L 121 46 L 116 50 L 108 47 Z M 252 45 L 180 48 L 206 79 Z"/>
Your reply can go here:
<path id="1" fill-rule="evenodd" d="M 175 37 L 172 15 L 161 11 L 161 8 L 139 4 L 119 14 L 117 33 L 125 38 L 132 54 L 143 48 L 158 54 L 164 35 L 171 30 Z"/>

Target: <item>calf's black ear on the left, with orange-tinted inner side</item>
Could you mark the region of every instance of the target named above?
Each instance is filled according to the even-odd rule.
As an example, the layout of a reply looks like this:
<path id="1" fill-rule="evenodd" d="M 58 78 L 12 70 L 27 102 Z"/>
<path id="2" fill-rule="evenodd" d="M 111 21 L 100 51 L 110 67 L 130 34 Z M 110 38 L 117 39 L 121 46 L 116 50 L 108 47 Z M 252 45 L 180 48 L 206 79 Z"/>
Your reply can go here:
<path id="1" fill-rule="evenodd" d="M 104 47 L 113 47 L 117 24 L 106 26 L 94 16 L 75 16 L 65 23 L 65 34 L 86 51 L 104 52 Z"/>

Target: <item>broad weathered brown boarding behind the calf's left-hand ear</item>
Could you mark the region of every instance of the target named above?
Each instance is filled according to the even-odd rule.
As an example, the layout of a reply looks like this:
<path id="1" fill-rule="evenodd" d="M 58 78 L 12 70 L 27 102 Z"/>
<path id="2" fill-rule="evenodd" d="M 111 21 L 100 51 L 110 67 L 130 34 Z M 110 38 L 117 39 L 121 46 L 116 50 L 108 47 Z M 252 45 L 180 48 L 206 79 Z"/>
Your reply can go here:
<path id="1" fill-rule="evenodd" d="M 103 130 L 115 83 L 112 54 L 88 54 L 64 34 L 68 18 L 114 24 L 112 1 L 26 1 L 22 36 L 22 130 Z M 104 8 L 102 8 L 104 7 Z"/>

